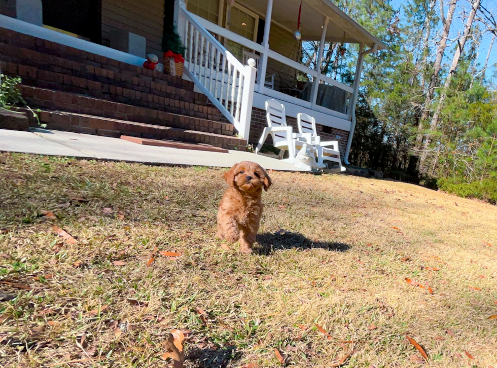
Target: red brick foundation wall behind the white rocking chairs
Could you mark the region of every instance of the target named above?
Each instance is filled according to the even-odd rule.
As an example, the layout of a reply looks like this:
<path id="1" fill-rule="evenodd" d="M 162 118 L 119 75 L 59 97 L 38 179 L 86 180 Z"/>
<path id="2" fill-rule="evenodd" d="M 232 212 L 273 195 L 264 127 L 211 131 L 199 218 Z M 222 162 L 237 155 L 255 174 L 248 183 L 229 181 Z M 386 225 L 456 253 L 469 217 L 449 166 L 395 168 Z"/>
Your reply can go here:
<path id="1" fill-rule="evenodd" d="M 294 131 L 298 132 L 297 118 L 287 116 L 287 124 L 294 128 Z M 263 129 L 267 126 L 266 123 L 266 112 L 260 108 L 252 108 L 252 121 L 250 126 L 250 137 L 248 142 L 256 143 L 259 141 L 262 135 Z M 345 155 L 345 148 L 347 146 L 348 132 L 341 129 L 331 128 L 331 133 L 323 132 L 323 125 L 316 124 L 317 134 L 322 140 L 337 140 L 336 135 L 340 136 L 338 140 L 338 149 L 340 151 L 340 156 Z M 268 138 L 270 140 L 270 138 Z"/>

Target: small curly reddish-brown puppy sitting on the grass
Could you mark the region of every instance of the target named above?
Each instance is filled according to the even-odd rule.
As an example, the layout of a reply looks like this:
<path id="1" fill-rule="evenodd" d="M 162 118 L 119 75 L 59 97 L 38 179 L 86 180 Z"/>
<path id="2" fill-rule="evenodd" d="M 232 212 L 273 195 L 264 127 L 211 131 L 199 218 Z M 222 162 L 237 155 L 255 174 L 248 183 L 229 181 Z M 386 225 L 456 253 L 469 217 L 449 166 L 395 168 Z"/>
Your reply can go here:
<path id="1" fill-rule="evenodd" d="M 252 252 L 261 221 L 262 189 L 267 192 L 271 179 L 257 163 L 243 161 L 224 173 L 228 189 L 218 210 L 217 237 L 240 242 L 240 251 Z"/>

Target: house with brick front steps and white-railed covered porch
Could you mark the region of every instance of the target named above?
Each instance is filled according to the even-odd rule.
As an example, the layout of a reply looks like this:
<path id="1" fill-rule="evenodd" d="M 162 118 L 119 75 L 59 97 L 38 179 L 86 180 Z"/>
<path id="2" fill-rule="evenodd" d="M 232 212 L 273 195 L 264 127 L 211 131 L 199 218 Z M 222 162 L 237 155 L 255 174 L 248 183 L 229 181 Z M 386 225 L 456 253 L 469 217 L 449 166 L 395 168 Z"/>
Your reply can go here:
<path id="1" fill-rule="evenodd" d="M 141 67 L 146 54 L 162 55 L 171 25 L 186 47 L 183 79 Z M 359 44 L 354 82 L 302 64 L 305 41 L 320 42 L 316 65 L 325 42 Z M 299 112 L 314 116 L 347 163 L 362 62 L 383 48 L 330 0 L 0 2 L 2 72 L 21 76 L 49 127 L 93 134 L 244 149 L 274 98 L 291 125 Z"/>

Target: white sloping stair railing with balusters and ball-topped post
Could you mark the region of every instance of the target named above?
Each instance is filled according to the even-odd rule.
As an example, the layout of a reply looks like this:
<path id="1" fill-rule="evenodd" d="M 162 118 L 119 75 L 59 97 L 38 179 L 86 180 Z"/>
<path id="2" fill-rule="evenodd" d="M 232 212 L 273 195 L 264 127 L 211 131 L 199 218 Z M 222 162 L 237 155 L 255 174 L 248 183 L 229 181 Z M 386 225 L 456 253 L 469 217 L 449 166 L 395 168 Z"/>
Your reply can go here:
<path id="1" fill-rule="evenodd" d="M 238 61 L 186 10 L 175 2 L 177 32 L 185 45 L 185 74 L 248 140 L 257 69 Z"/>

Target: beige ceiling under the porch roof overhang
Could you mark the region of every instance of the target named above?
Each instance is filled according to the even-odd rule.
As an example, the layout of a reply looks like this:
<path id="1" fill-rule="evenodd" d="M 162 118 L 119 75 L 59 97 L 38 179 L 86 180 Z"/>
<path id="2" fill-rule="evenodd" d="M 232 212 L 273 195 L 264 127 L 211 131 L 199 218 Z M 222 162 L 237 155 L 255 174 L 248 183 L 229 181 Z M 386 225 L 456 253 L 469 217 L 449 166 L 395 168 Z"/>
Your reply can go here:
<path id="1" fill-rule="evenodd" d="M 245 0 L 245 4 L 248 8 L 261 15 L 266 14 L 267 0 Z M 274 0 L 272 19 L 291 30 L 295 30 L 297 29 L 299 6 L 300 0 Z M 346 43 L 365 44 L 370 47 L 376 43 L 378 50 L 386 48 L 381 41 L 352 20 L 330 0 L 303 1 L 300 18 L 300 31 L 303 40 L 321 40 L 323 16 L 330 18 L 326 31 L 326 41 L 344 41 Z"/>

